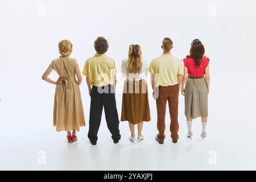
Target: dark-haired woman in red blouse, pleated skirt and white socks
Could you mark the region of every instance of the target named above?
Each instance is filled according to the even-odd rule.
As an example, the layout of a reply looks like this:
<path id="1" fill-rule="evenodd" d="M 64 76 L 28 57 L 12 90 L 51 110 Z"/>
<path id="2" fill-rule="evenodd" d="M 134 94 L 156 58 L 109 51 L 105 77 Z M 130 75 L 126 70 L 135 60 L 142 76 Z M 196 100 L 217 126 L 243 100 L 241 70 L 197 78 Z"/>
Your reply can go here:
<path id="1" fill-rule="evenodd" d="M 210 90 L 209 58 L 204 56 L 204 45 L 199 39 L 191 43 L 190 54 L 183 60 L 184 75 L 181 94 L 185 96 L 185 116 L 188 134 L 192 139 L 192 119 L 201 117 L 203 130 L 201 137 L 206 137 L 205 128 L 208 117 L 208 93 Z M 184 88 L 185 85 L 185 88 Z"/>

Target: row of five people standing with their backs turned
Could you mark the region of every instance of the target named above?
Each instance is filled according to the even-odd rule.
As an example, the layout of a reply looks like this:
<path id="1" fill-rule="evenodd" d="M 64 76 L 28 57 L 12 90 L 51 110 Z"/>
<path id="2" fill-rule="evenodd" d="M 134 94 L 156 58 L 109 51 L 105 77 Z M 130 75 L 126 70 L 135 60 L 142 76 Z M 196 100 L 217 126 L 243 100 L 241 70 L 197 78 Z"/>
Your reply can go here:
<path id="1" fill-rule="evenodd" d="M 171 54 L 172 40 L 164 38 L 162 42 L 163 54 L 151 61 L 149 67 L 142 59 L 141 47 L 138 44 L 129 46 L 128 58 L 122 60 L 122 75 L 126 78 L 123 86 L 121 121 L 129 121 L 131 131 L 130 140 L 135 142 L 135 125 L 138 125 L 138 141 L 144 139 L 142 135 L 143 122 L 150 121 L 150 106 L 148 89 L 145 78 L 151 74 L 153 97 L 156 100 L 157 129 L 155 139 L 164 143 L 166 104 L 168 101 L 171 117 L 171 138 L 176 143 L 179 139 L 178 104 L 179 90 L 185 96 L 185 116 L 187 118 L 188 134 L 192 139 L 192 119 L 201 117 L 203 131 L 201 137 L 206 137 L 205 127 L 208 117 L 209 93 L 209 59 L 204 55 L 204 46 L 199 39 L 193 40 L 189 55 L 177 59 Z M 106 56 L 108 41 L 98 37 L 94 42 L 96 54 L 86 60 L 83 74 L 91 98 L 89 115 L 90 142 L 97 144 L 97 134 L 100 127 L 102 110 L 104 107 L 108 129 L 114 143 L 121 139 L 119 132 L 119 118 L 115 102 L 115 86 L 117 84 L 117 68 L 115 61 Z M 82 81 L 77 61 L 69 55 L 73 45 L 69 40 L 59 43 L 60 57 L 44 72 L 43 80 L 56 85 L 53 107 L 53 126 L 56 131 L 67 131 L 69 143 L 76 142 L 76 131 L 85 126 L 84 111 L 81 101 L 79 85 Z M 55 70 L 59 75 L 57 81 L 48 78 Z M 185 86 L 185 88 L 184 88 Z M 71 133 L 72 131 L 72 133 Z"/>

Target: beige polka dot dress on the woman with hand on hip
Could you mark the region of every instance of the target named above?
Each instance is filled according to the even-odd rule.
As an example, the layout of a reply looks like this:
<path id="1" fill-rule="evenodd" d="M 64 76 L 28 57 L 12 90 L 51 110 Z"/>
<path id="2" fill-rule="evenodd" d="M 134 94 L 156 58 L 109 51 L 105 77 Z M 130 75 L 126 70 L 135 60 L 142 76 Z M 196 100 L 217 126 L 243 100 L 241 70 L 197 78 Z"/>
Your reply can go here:
<path id="1" fill-rule="evenodd" d="M 85 126 L 85 119 L 79 88 L 82 82 L 79 65 L 75 59 L 59 57 L 44 72 L 43 80 L 53 69 L 61 78 L 55 89 L 53 126 L 56 126 L 56 131 L 80 131 L 80 126 Z"/>

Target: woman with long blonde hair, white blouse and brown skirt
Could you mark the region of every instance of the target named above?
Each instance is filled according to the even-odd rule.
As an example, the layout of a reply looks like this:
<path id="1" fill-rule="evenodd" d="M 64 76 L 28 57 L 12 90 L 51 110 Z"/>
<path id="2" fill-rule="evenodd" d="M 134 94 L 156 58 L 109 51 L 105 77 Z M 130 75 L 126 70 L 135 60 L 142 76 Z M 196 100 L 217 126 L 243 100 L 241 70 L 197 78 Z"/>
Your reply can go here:
<path id="1" fill-rule="evenodd" d="M 142 135 L 143 121 L 150 121 L 146 60 L 142 60 L 141 47 L 138 44 L 129 46 L 128 59 L 122 60 L 122 75 L 126 78 L 123 86 L 121 121 L 128 121 L 131 131 L 130 140 L 135 142 L 135 126 L 138 125 L 138 142 Z"/>

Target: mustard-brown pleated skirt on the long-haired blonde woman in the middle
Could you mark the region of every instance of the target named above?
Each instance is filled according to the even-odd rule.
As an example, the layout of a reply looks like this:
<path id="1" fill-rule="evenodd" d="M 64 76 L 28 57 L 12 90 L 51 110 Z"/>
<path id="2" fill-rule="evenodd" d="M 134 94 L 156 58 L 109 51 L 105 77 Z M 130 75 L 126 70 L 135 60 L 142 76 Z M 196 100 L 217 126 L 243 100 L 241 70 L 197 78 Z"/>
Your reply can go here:
<path id="1" fill-rule="evenodd" d="M 126 80 L 123 85 L 121 121 L 129 121 L 135 125 L 150 120 L 146 80 Z"/>

